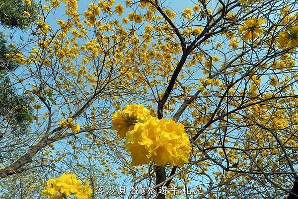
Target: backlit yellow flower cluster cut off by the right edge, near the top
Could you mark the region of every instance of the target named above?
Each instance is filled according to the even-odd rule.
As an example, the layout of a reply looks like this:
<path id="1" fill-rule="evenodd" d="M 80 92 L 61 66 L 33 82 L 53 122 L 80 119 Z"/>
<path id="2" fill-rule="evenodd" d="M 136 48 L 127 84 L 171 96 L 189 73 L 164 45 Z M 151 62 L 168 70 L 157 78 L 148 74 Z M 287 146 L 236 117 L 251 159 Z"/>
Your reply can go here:
<path id="1" fill-rule="evenodd" d="M 279 33 L 278 44 L 280 48 L 298 47 L 298 25 L 289 28 L 289 32 Z"/>

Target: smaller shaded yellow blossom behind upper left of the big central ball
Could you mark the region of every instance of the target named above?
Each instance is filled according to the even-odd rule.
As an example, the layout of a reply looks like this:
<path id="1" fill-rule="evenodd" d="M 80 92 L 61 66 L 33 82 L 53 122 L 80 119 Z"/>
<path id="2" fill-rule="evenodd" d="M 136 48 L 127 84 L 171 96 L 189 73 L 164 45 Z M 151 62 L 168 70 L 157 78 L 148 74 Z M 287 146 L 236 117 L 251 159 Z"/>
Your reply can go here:
<path id="1" fill-rule="evenodd" d="M 125 137 L 126 132 L 132 130 L 136 123 L 146 122 L 150 118 L 149 111 L 141 104 L 127 105 L 123 110 L 118 110 L 112 116 L 112 130 L 116 130 L 120 137 Z"/>

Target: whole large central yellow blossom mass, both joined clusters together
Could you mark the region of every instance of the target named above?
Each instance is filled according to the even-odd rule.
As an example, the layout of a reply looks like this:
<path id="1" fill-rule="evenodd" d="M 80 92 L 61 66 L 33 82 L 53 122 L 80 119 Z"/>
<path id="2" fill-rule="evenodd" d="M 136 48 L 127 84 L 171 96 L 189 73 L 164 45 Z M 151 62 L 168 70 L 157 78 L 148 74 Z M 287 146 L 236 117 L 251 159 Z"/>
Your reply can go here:
<path id="1" fill-rule="evenodd" d="M 151 160 L 159 166 L 183 166 L 188 162 L 190 141 L 181 123 L 165 118 L 158 120 L 144 106 L 136 104 L 113 114 L 112 125 L 112 130 L 126 138 L 124 146 L 131 153 L 132 165 Z"/>

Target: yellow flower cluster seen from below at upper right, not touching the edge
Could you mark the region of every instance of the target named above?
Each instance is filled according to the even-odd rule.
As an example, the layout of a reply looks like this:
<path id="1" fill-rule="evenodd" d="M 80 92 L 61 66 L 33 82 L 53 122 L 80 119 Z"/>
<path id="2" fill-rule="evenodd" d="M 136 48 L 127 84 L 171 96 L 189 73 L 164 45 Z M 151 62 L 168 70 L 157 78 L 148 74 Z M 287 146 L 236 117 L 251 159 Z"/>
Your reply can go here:
<path id="1" fill-rule="evenodd" d="M 239 34 L 244 32 L 242 39 L 252 40 L 262 34 L 263 28 L 261 24 L 264 24 L 265 20 L 263 18 L 250 18 L 244 21 L 243 26 L 239 26 Z"/>

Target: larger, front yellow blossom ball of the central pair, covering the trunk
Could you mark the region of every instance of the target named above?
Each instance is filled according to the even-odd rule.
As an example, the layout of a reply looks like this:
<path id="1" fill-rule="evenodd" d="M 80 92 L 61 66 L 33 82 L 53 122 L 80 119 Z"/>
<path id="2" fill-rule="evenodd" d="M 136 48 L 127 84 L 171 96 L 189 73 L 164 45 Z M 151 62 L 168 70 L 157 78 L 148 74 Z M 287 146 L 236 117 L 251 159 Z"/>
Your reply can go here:
<path id="1" fill-rule="evenodd" d="M 183 166 L 188 162 L 190 141 L 184 126 L 165 118 L 151 118 L 138 123 L 127 133 L 125 147 L 132 156 L 132 164 L 144 164 L 153 160 L 156 165 Z M 142 151 L 142 153 L 140 153 Z"/>

